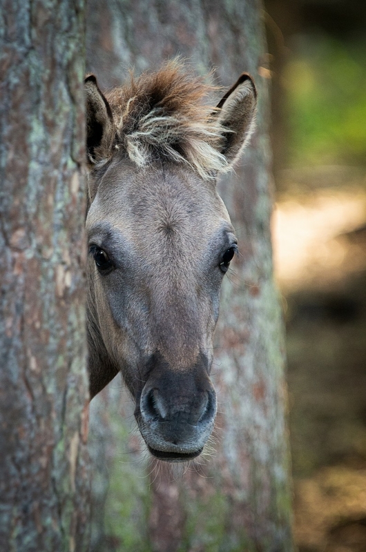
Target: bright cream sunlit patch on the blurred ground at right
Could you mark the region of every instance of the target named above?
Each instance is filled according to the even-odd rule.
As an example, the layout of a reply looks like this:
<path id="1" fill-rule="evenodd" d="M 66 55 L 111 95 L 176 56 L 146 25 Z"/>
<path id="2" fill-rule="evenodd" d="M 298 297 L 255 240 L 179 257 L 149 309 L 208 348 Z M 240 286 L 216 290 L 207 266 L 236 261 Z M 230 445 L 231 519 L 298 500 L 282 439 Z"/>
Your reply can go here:
<path id="1" fill-rule="evenodd" d="M 296 199 L 282 199 L 273 213 L 276 276 L 285 290 L 318 280 L 334 282 L 346 272 L 365 266 L 343 235 L 366 221 L 362 189 L 319 190 Z"/>

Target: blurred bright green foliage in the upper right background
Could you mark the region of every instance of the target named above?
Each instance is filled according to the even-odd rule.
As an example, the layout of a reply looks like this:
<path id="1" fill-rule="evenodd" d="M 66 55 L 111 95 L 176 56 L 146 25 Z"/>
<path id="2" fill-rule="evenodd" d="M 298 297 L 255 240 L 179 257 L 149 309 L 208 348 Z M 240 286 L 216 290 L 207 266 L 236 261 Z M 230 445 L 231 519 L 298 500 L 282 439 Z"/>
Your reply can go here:
<path id="1" fill-rule="evenodd" d="M 366 37 L 297 37 L 285 70 L 294 166 L 365 164 Z"/>

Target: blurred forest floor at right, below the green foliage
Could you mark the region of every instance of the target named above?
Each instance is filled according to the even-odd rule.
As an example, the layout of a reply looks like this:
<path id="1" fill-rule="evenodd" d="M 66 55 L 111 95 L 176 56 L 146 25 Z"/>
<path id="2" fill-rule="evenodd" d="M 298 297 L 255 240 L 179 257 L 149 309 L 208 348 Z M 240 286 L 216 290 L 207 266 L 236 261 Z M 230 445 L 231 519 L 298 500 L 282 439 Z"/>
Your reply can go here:
<path id="1" fill-rule="evenodd" d="M 299 552 L 366 552 L 365 171 L 288 172 L 273 217 Z"/>

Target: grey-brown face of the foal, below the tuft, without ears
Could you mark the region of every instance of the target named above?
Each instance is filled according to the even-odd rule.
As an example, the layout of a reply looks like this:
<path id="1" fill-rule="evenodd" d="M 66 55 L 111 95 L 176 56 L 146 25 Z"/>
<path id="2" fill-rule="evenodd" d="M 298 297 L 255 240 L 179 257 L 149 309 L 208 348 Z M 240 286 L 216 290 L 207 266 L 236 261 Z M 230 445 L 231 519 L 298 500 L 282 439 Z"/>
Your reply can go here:
<path id="1" fill-rule="evenodd" d="M 211 182 L 116 157 L 90 205 L 88 275 L 108 358 L 156 457 L 200 454 L 216 413 L 209 379 L 222 277 L 237 249 Z"/>

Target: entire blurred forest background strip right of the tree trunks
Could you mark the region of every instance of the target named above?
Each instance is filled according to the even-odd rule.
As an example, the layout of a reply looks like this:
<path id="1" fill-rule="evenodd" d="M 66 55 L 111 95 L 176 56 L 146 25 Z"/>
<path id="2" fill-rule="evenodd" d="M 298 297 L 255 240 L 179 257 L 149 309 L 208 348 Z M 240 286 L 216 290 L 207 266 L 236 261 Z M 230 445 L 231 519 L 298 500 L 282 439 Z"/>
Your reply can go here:
<path id="1" fill-rule="evenodd" d="M 366 551 L 366 3 L 267 0 L 300 552 Z"/>

